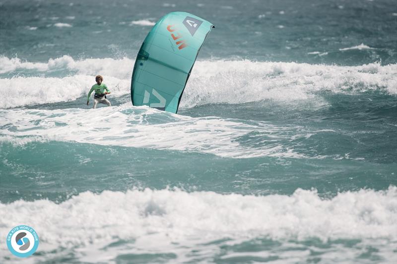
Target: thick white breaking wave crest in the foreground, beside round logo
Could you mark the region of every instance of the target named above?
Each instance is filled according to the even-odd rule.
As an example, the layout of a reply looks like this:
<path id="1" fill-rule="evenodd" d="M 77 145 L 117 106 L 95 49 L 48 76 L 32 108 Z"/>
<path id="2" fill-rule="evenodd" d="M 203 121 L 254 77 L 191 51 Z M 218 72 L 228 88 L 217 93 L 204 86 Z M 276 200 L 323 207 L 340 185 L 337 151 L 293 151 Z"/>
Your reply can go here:
<path id="1" fill-rule="evenodd" d="M 208 234 L 206 239 L 226 235 L 267 236 L 275 240 L 309 237 L 325 241 L 343 238 L 397 240 L 396 186 L 386 191 L 348 191 L 331 199 L 322 199 L 316 190 L 302 189 L 290 196 L 189 193 L 179 189 L 104 191 L 101 194 L 87 191 L 61 204 L 48 200 L 19 200 L 1 203 L 0 209 L 8 215 L 1 218 L 3 233 L 18 222 L 20 211 L 29 211 L 27 215 L 32 217 L 26 221 L 41 230 L 41 236 L 47 238 L 43 242 L 59 246 L 109 237 L 136 238 L 150 235 L 153 229 L 170 233 L 176 240 L 190 235 L 199 238 L 203 230 Z M 98 228 L 90 228 L 94 223 Z M 75 232 L 70 232 L 70 228 Z M 84 237 L 86 235 L 92 239 Z"/>

